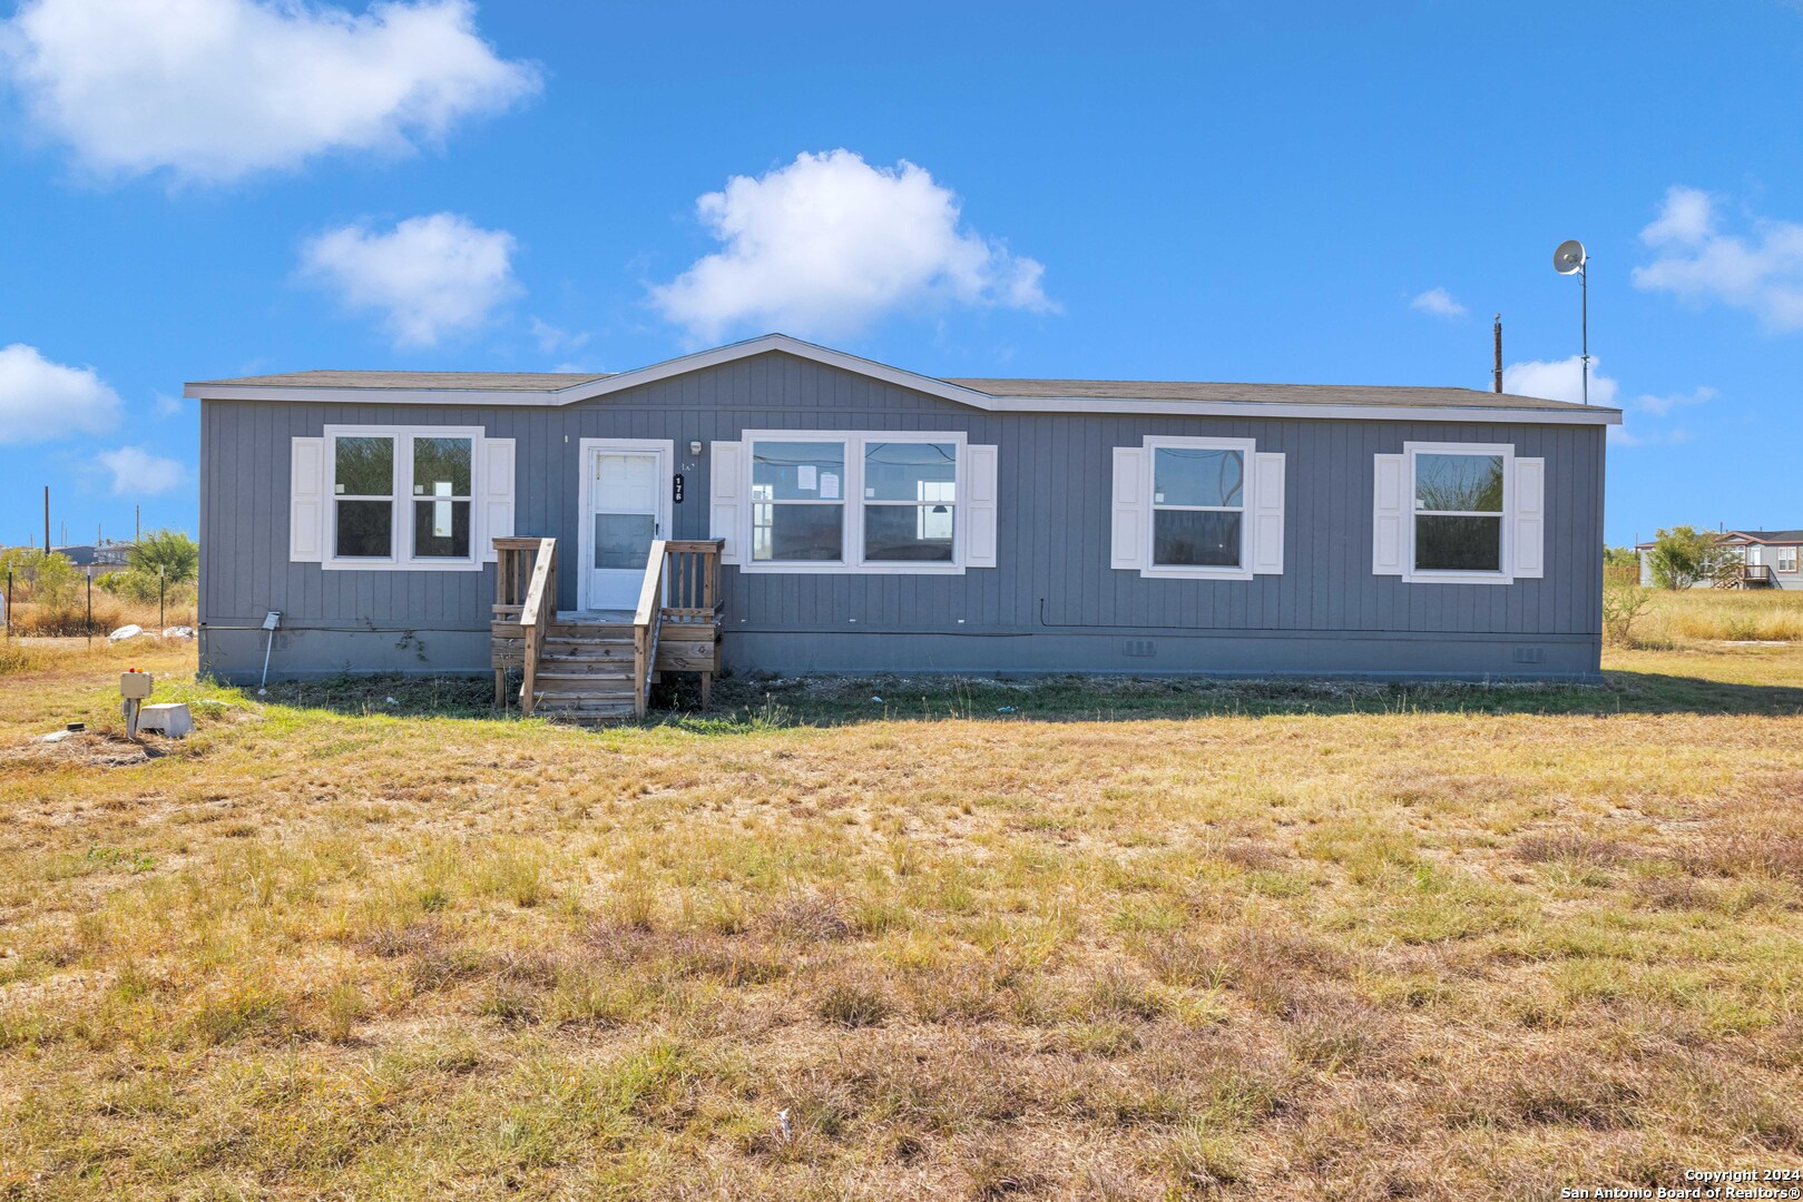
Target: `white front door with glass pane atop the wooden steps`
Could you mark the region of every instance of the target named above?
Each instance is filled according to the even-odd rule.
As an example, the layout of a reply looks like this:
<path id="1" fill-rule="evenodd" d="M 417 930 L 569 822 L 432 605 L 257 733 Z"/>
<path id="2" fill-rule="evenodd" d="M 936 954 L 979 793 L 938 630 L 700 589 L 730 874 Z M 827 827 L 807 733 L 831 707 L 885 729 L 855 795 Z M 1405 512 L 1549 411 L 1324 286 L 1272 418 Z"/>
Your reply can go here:
<path id="1" fill-rule="evenodd" d="M 669 451 L 660 443 L 584 440 L 588 512 L 582 528 L 581 604 L 633 609 L 653 539 L 669 526 Z"/>

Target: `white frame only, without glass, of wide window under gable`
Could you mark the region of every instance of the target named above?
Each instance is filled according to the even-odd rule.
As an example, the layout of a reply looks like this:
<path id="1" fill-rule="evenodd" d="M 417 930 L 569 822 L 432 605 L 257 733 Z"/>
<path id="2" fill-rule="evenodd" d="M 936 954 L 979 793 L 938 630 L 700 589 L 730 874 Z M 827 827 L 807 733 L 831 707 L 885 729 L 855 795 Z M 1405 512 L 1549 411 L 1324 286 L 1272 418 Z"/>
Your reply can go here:
<path id="1" fill-rule="evenodd" d="M 761 442 L 837 442 L 846 449 L 846 478 L 840 501 L 795 501 L 795 505 L 840 506 L 840 559 L 837 560 L 770 560 L 752 559 L 752 530 L 757 505 L 788 505 L 761 501 L 752 496 L 752 467 Z M 864 454 L 865 443 L 950 443 L 952 465 L 952 559 L 934 560 L 871 560 L 864 557 Z M 748 429 L 739 433 L 739 544 L 745 555 L 739 571 L 752 575 L 907 575 L 907 577 L 961 577 L 966 568 L 968 523 L 959 510 L 968 503 L 970 456 L 963 431 L 811 431 L 811 429 Z M 873 505 L 912 505 L 909 501 L 874 501 Z"/>

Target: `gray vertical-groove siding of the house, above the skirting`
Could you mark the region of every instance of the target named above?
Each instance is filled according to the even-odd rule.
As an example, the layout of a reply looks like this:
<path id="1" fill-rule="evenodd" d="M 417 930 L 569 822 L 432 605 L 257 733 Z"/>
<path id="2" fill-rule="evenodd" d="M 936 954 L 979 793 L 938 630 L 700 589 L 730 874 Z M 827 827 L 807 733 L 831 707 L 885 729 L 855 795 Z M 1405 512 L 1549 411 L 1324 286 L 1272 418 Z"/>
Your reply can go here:
<path id="1" fill-rule="evenodd" d="M 481 425 L 490 436 L 514 438 L 516 530 L 552 535 L 572 551 L 581 438 L 674 440 L 687 476 L 687 501 L 674 510 L 680 539 L 709 533 L 709 458 L 692 460 L 691 440 L 737 440 L 745 429 L 948 429 L 1001 449 L 997 568 L 961 577 L 743 575 L 728 568 L 728 631 L 736 634 L 1509 636 L 1574 642 L 1585 649 L 1587 670 L 1596 667 L 1603 429 L 1592 425 L 993 414 L 783 353 L 561 409 L 207 400 L 200 609 L 209 627 L 254 625 L 267 609 L 281 609 L 294 631 L 487 629 L 492 568 L 384 573 L 288 562 L 288 440 L 317 436 L 328 423 Z M 1282 575 L 1147 580 L 1109 568 L 1112 449 L 1139 445 L 1145 434 L 1253 438 L 1260 451 L 1287 456 Z M 1397 452 L 1405 442 L 1507 442 L 1522 456 L 1545 458 L 1545 577 L 1435 586 L 1372 575 L 1372 456 Z M 563 575 L 559 604 L 575 606 L 575 571 Z M 215 643 L 215 669 L 236 672 L 229 660 L 238 652 Z M 909 645 L 891 640 L 889 667 L 909 667 Z M 755 656 L 739 661 L 755 667 Z M 1127 660 L 1120 667 L 1143 665 Z"/>

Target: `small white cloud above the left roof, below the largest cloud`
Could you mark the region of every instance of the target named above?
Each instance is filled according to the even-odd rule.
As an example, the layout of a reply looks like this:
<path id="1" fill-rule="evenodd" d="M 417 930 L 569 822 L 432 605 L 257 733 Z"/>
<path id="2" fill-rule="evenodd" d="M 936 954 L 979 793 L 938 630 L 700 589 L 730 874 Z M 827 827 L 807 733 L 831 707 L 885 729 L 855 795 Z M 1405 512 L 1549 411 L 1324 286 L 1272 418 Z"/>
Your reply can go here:
<path id="1" fill-rule="evenodd" d="M 413 216 L 389 232 L 326 231 L 301 249 L 305 278 L 348 308 L 377 310 L 397 346 L 436 346 L 519 296 L 514 236 L 454 213 Z"/>

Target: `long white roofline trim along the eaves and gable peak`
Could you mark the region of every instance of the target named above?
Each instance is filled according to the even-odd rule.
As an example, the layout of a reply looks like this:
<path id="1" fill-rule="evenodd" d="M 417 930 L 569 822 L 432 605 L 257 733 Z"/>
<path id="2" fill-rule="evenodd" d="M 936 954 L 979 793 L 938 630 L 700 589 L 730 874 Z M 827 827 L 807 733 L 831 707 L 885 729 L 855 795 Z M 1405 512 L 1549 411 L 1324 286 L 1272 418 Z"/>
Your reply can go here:
<path id="1" fill-rule="evenodd" d="M 1323 418 L 1352 422 L 1507 422 L 1518 425 L 1621 425 L 1621 411 L 1601 405 L 1572 405 L 1569 409 L 1509 409 L 1502 405 L 1358 405 L 1358 404 L 1293 404 L 1255 400 L 1134 400 L 1112 396 L 992 396 L 972 387 L 936 380 L 929 375 L 891 368 L 871 359 L 860 359 L 813 342 L 792 339 L 786 333 L 766 333 L 730 346 L 682 355 L 649 368 L 622 371 L 568 387 L 523 389 L 456 389 L 456 387 L 297 387 L 260 384 L 188 384 L 184 396 L 202 400 L 299 400 L 323 404 L 384 404 L 384 405 L 494 405 L 494 407 L 559 407 L 597 400 L 613 393 L 654 384 L 689 371 L 718 368 L 719 364 L 784 351 L 828 368 L 907 387 L 929 396 L 939 396 L 988 413 L 1138 413 L 1168 416 L 1262 416 L 1262 418 Z M 1484 393 L 1473 393 L 1473 398 Z"/>

